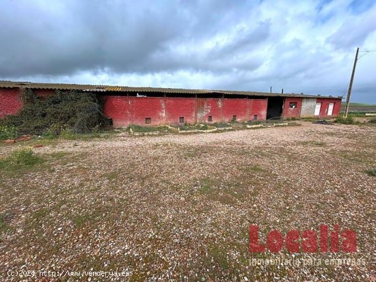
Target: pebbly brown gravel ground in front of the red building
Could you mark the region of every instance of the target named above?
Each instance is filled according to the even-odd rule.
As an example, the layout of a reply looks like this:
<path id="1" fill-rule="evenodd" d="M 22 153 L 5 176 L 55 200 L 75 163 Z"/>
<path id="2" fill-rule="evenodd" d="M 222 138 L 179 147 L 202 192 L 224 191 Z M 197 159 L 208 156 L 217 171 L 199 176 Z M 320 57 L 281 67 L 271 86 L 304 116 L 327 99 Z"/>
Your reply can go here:
<path id="1" fill-rule="evenodd" d="M 376 281 L 376 127 L 299 124 L 46 142 L 46 162 L 0 172 L 0 280 Z M 358 251 L 250 253 L 250 225 L 265 244 L 322 224 L 354 230 Z"/>

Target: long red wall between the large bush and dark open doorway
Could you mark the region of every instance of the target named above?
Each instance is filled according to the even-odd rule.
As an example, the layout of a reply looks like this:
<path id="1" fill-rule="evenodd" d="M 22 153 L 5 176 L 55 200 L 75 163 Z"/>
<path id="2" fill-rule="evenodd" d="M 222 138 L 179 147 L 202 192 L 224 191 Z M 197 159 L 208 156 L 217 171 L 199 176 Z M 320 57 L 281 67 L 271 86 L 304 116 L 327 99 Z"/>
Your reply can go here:
<path id="1" fill-rule="evenodd" d="M 219 99 L 219 98 L 162 98 L 134 96 L 104 96 L 104 113 L 113 121 L 113 126 L 146 124 L 146 117 L 151 117 L 151 125 L 179 124 L 179 117 L 184 122 L 208 122 L 209 115 L 213 122 L 229 122 L 233 115 L 238 121 L 266 118 L 267 99 Z"/>

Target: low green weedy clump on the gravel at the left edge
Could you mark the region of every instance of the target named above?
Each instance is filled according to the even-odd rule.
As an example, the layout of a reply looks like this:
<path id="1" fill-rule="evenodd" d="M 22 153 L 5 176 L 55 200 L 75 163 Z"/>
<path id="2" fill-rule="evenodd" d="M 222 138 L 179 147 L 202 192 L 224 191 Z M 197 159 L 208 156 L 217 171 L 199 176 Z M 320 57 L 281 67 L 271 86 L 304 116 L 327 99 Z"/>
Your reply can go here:
<path id="1" fill-rule="evenodd" d="M 38 163 L 44 162 L 40 156 L 36 156 L 29 147 L 16 150 L 10 156 L 0 160 L 1 169 L 32 167 Z"/>

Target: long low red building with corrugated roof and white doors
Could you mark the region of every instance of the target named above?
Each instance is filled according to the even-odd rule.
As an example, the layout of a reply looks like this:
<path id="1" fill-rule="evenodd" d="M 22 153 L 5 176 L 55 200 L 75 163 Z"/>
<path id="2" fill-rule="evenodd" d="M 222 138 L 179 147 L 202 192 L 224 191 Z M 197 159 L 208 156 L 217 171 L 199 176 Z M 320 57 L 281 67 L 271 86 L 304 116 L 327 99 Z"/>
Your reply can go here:
<path id="1" fill-rule="evenodd" d="M 53 95 L 55 90 L 95 92 L 104 98 L 104 113 L 115 127 L 335 117 L 341 103 L 340 97 L 304 94 L 0 81 L 0 118 L 22 109 L 23 89 L 38 96 Z"/>

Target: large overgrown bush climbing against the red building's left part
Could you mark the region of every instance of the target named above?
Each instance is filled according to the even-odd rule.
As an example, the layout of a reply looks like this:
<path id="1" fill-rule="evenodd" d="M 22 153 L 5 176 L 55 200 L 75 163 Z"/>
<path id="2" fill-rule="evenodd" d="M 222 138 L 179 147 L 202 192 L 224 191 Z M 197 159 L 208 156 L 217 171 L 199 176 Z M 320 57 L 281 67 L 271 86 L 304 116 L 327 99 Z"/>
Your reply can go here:
<path id="1" fill-rule="evenodd" d="M 21 111 L 0 121 L 0 126 L 16 128 L 20 135 L 53 137 L 65 129 L 88 133 L 98 126 L 109 125 L 109 119 L 101 112 L 103 102 L 95 94 L 57 90 L 54 95 L 42 98 L 27 89 L 22 99 Z"/>

